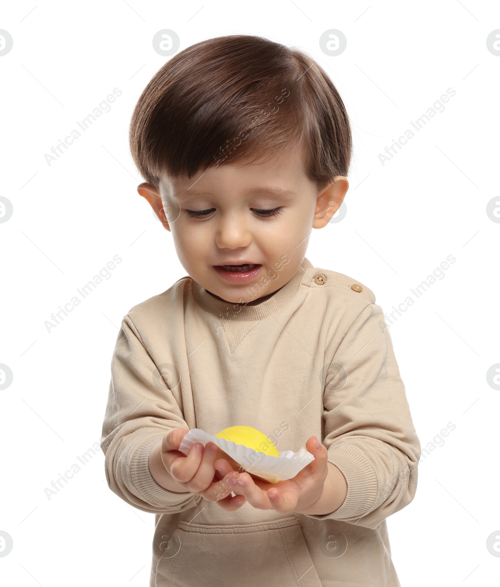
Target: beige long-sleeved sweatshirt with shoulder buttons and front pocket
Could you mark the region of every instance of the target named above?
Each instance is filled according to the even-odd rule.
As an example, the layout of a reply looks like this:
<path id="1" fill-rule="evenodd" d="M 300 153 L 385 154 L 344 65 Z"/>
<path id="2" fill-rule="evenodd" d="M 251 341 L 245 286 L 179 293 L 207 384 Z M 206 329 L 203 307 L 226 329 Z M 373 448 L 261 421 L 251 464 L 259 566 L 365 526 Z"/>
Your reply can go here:
<path id="1" fill-rule="evenodd" d="M 237 424 L 280 451 L 321 438 L 345 502 L 328 515 L 226 512 L 152 478 L 166 431 Z M 151 587 L 399 585 L 385 519 L 413 499 L 420 444 L 382 309 L 346 275 L 304 259 L 273 296 L 236 308 L 185 277 L 132 308 L 101 448 L 111 490 L 156 514 Z"/>

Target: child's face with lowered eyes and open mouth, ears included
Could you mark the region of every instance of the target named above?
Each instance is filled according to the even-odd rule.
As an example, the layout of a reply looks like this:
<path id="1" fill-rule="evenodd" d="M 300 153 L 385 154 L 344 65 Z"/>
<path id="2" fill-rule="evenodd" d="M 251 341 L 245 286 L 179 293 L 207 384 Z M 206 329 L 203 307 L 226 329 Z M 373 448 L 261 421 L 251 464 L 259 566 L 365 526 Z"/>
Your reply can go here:
<path id="1" fill-rule="evenodd" d="M 253 302 L 290 281 L 311 228 L 328 223 L 347 189 L 338 177 L 319 193 L 294 147 L 266 163 L 226 163 L 191 180 L 164 177 L 159 193 L 149 184 L 138 192 L 172 232 L 195 281 L 228 302 Z"/>

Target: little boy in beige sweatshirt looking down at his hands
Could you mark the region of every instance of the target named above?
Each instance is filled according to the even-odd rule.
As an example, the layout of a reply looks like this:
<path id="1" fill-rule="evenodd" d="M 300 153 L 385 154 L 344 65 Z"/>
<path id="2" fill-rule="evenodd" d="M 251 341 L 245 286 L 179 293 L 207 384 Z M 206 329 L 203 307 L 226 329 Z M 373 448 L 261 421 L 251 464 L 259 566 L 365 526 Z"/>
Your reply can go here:
<path id="1" fill-rule="evenodd" d="M 149 82 L 130 145 L 188 273 L 125 316 L 103 424 L 111 490 L 156 514 L 150 585 L 399 585 L 385 519 L 420 445 L 390 335 L 366 285 L 305 258 L 348 190 L 331 80 L 267 39 L 209 39 Z M 213 443 L 178 450 L 237 425 L 314 460 L 272 484 Z"/>

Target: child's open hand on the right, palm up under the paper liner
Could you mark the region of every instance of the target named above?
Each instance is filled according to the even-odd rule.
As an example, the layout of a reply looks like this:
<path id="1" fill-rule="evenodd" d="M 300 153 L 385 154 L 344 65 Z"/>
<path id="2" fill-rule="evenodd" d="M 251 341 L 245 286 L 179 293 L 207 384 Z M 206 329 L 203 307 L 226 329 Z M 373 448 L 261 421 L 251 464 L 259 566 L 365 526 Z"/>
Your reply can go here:
<path id="1" fill-rule="evenodd" d="M 217 460 L 215 467 L 220 475 L 236 481 L 234 493 L 243 495 L 254 508 L 273 509 L 282 514 L 289 511 L 329 514 L 345 500 L 345 478 L 335 465 L 328 463 L 328 451 L 315 436 L 309 438 L 305 447 L 314 456 L 314 461 L 287 481 L 268 483 L 258 480 L 249 473 L 232 470 L 223 459 Z"/>

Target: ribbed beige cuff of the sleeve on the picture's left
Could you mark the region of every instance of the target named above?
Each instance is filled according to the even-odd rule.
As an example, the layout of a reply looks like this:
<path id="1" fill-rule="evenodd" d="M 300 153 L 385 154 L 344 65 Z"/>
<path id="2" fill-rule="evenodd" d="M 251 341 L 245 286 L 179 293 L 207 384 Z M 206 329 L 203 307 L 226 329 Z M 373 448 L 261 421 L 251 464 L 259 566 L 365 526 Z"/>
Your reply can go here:
<path id="1" fill-rule="evenodd" d="M 149 471 L 149 454 L 163 436 L 164 433 L 147 436 L 137 446 L 130 460 L 130 477 L 134 487 L 140 494 L 138 497 L 142 500 L 158 508 L 165 508 L 165 510 L 175 508 L 178 511 L 179 505 L 196 496 L 189 492 L 176 493 L 165 489 L 158 485 L 151 475 L 151 471 Z"/>

